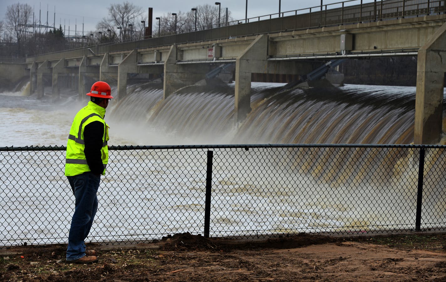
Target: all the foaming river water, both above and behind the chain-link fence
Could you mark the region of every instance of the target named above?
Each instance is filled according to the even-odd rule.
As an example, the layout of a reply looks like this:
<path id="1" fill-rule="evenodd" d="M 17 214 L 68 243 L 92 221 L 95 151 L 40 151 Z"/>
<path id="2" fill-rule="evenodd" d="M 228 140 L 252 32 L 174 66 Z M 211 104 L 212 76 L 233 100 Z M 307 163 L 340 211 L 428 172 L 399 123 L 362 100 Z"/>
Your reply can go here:
<path id="1" fill-rule="evenodd" d="M 120 102 L 111 100 L 107 108 L 106 120 L 111 126 L 109 145 L 413 141 L 414 87 L 347 85 L 339 90 L 293 90 L 277 94 L 281 86 L 253 83 L 252 113 L 238 125 L 234 122 L 233 84 L 212 90 L 188 87 L 164 102 L 159 85 L 129 86 L 128 97 Z M 0 147 L 65 146 L 74 114 L 86 101 L 78 102 L 70 90 L 63 90 L 61 96 L 61 102 L 52 104 L 47 95 L 38 100 L 21 92 L 0 94 Z M 246 229 L 288 232 L 321 231 L 328 226 L 334 230 L 345 226 L 385 228 L 396 224 L 395 219 L 403 222 L 403 226 L 413 227 L 415 198 L 410 189 L 417 182 L 415 159 L 409 160 L 409 168 L 400 168 L 396 159 L 388 172 L 376 172 L 374 181 L 383 181 L 376 187 L 376 183 L 369 183 L 368 172 L 360 168 L 350 174 L 330 172 L 339 171 L 337 166 L 342 168 L 345 163 L 359 162 L 375 167 L 393 155 L 392 152 L 376 155 L 333 151 L 329 154 L 333 159 L 321 157 L 317 152 L 313 153 L 313 163 L 296 163 L 290 159 L 290 155 L 299 155 L 301 151 L 285 151 L 283 155 L 256 152 L 255 155 L 263 156 L 268 162 L 248 161 L 247 169 L 241 171 L 225 165 L 231 163 L 227 156 L 216 152 L 212 225 L 232 235 Z M 109 172 L 103 177 L 99 191 L 100 207 L 97 227 L 91 234 L 93 241 L 202 230 L 204 165 L 190 151 L 177 153 L 185 154 L 177 156 L 181 162 L 172 163 L 169 159 L 172 156 L 153 152 L 147 157 L 129 155 L 136 163 L 119 163 L 111 152 Z M 35 158 L 25 157 L 25 160 L 14 155 L 8 161 L 11 168 L 2 163 L 0 199 L 8 202 L 0 204 L 0 214 L 9 215 L 3 233 L 9 244 L 66 241 L 73 199 L 63 176 L 64 156 L 54 155 L 53 167 L 46 171 L 43 183 L 39 183 L 37 180 L 42 176 L 36 168 L 46 169 L 47 164 L 36 161 L 42 155 L 36 154 Z M 244 150 L 234 153 L 231 159 L 246 159 L 244 154 Z M 408 156 L 403 154 L 401 159 L 404 158 Z M 275 166 L 269 166 L 270 161 Z M 148 171 L 141 171 L 140 166 Z M 400 169 L 402 172 L 398 173 Z M 265 174 L 281 177 L 266 179 Z M 398 174 L 403 177 L 395 178 Z M 435 175 L 430 179 L 442 177 Z M 305 187 L 302 179 L 306 179 Z M 46 188 L 42 191 L 42 187 Z M 426 202 L 438 209 L 438 222 L 444 222 L 445 199 L 436 192 L 440 191 L 438 187 L 434 188 L 428 192 Z M 300 200 L 303 192 L 310 197 Z M 159 200 L 159 194 L 169 196 L 170 201 Z M 388 205 L 377 206 L 372 200 L 386 195 L 412 200 L 409 205 L 392 204 L 389 212 Z M 361 208 L 351 202 L 358 198 L 363 199 Z M 51 209 L 52 200 L 58 201 L 58 209 Z M 113 220 L 107 221 L 110 215 Z M 116 237 L 116 233 L 127 235 Z M 45 237 L 48 234 L 49 239 Z M 47 239 L 33 241 L 33 238 Z"/>

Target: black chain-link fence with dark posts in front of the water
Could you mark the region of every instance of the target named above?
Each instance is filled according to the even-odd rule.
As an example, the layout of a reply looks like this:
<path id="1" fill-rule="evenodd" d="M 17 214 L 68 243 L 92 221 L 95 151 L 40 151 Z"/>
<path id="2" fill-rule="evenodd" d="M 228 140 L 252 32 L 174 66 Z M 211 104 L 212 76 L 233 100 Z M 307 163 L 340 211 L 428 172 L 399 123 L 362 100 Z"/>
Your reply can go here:
<path id="1" fill-rule="evenodd" d="M 0 246 L 67 241 L 65 147 L 0 148 Z M 445 229 L 446 146 L 110 147 L 87 238 Z"/>

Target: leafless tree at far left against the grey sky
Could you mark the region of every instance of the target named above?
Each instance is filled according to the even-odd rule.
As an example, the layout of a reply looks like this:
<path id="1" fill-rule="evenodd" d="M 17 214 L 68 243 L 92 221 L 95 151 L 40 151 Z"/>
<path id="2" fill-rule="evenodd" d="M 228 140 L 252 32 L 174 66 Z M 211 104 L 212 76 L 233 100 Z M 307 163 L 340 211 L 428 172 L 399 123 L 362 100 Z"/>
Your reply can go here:
<path id="1" fill-rule="evenodd" d="M 6 8 L 8 31 L 16 37 L 18 55 L 21 55 L 21 40 L 25 37 L 26 25 L 31 24 L 33 8 L 29 4 L 12 4 Z"/>

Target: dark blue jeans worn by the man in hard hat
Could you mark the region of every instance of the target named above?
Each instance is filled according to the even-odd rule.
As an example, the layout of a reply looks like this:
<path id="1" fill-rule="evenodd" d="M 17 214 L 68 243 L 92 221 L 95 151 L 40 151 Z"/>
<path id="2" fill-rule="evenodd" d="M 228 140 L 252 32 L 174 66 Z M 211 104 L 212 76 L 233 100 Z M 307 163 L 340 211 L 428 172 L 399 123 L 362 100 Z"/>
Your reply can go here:
<path id="1" fill-rule="evenodd" d="M 100 175 L 85 172 L 76 176 L 67 176 L 73 190 L 75 208 L 71 220 L 66 260 L 75 261 L 85 256 L 85 238 L 90 233 L 91 224 L 98 210 L 98 192 Z"/>

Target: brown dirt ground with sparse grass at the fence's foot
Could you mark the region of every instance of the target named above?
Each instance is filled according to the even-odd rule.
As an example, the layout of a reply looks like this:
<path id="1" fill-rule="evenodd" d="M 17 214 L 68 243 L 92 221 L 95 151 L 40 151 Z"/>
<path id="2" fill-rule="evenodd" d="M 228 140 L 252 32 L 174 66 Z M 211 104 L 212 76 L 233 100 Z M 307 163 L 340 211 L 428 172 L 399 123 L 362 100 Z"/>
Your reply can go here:
<path id="1" fill-rule="evenodd" d="M 90 265 L 67 264 L 66 245 L 0 249 L 0 279 L 446 281 L 445 234 L 416 239 L 346 239 L 299 234 L 242 242 L 185 233 L 151 244 L 113 249 L 107 245 L 89 246 L 99 252 L 99 262 Z"/>

